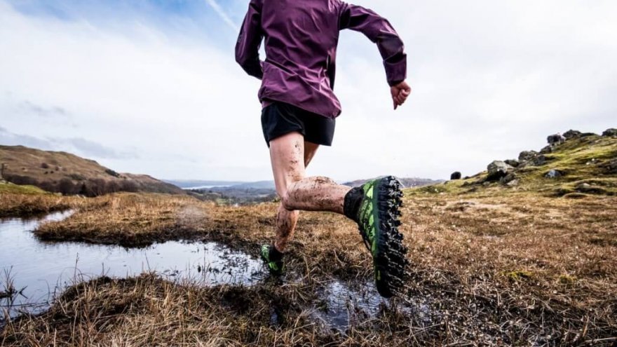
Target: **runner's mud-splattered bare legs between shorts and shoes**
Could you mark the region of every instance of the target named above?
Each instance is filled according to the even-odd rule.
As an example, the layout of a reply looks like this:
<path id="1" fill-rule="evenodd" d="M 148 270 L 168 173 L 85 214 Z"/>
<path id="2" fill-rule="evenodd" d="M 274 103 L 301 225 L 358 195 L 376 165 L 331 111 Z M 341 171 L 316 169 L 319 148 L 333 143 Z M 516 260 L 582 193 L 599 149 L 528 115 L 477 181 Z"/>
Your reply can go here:
<path id="1" fill-rule="evenodd" d="M 291 132 L 270 142 L 274 182 L 281 200 L 274 243 L 280 252 L 285 251 L 293 236 L 297 210 L 343 213 L 345 194 L 351 187 L 339 186 L 327 177 L 304 177 L 306 165 L 317 149 L 318 144 L 304 142 L 299 132 Z"/>

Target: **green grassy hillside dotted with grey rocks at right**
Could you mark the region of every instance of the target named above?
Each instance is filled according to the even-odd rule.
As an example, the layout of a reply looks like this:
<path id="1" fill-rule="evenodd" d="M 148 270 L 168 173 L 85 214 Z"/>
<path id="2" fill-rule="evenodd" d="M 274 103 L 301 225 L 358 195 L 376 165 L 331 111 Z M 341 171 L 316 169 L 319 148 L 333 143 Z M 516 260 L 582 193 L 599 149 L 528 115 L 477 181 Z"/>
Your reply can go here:
<path id="1" fill-rule="evenodd" d="M 551 135 L 553 136 L 553 135 Z M 569 130 L 561 141 L 517 159 L 493 161 L 465 179 L 425 186 L 410 193 L 536 192 L 543 196 L 584 198 L 617 195 L 617 130 L 602 135 Z"/>

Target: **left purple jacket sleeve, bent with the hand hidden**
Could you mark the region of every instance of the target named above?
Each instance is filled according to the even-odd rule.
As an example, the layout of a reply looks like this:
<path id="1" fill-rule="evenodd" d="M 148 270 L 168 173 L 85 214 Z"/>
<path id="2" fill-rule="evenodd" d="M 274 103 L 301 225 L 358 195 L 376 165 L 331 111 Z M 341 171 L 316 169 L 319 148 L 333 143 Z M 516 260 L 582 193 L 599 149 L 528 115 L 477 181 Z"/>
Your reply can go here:
<path id="1" fill-rule="evenodd" d="M 251 76 L 262 79 L 264 71 L 259 61 L 262 31 L 262 0 L 251 0 L 236 42 L 236 62 Z"/>

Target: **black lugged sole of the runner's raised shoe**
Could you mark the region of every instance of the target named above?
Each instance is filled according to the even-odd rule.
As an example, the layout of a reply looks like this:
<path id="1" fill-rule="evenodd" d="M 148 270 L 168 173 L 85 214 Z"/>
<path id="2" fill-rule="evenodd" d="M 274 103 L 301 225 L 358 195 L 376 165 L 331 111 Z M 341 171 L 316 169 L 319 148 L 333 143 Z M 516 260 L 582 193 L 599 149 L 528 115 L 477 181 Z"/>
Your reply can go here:
<path id="1" fill-rule="evenodd" d="M 373 254 L 375 285 L 382 297 L 393 297 L 405 285 L 409 261 L 405 257 L 407 247 L 403 245 L 400 226 L 402 206 L 402 184 L 393 176 L 379 179 L 373 193 L 373 209 L 377 210 L 379 223 L 375 238 L 377 250 Z M 377 193 L 375 193 L 377 192 Z"/>

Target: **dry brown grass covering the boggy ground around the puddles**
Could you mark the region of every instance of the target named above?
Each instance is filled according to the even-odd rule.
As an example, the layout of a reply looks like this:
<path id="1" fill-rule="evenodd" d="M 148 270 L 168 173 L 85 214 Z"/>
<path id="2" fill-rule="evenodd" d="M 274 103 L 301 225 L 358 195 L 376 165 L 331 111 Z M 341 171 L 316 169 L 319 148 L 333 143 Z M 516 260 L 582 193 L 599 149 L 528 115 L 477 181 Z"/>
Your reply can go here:
<path id="1" fill-rule="evenodd" d="M 46 238 L 142 245 L 217 240 L 257 254 L 273 236 L 276 204 L 231 207 L 187 197 L 116 194 L 81 205 Z M 412 278 L 408 300 L 435 315 L 384 309 L 347 334 L 320 329 L 306 313 L 324 280 L 362 283 L 371 259 L 355 226 L 303 212 L 283 285 L 175 285 L 145 276 L 74 287 L 51 310 L 13 322 L 7 346 L 46 345 L 440 346 L 595 345 L 617 337 L 617 198 L 406 194 L 402 233 Z M 271 322 L 271 308 L 284 322 Z M 114 345 L 115 343 L 115 345 Z"/>

